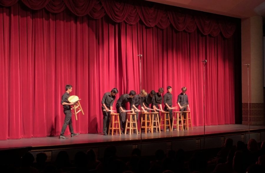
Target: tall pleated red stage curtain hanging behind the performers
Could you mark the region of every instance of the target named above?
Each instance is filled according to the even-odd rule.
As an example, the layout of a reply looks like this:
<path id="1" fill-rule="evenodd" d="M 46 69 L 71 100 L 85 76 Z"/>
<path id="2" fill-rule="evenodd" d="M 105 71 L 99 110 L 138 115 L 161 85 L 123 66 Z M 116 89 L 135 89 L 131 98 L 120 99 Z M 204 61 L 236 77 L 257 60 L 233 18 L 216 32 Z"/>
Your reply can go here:
<path id="1" fill-rule="evenodd" d="M 49 1 L 45 8 L 56 10 L 52 3 L 61 4 L 59 9 L 64 9 L 59 1 Z M 222 32 L 230 38 L 221 34 L 212 37 L 210 29 L 205 29 L 210 35 L 196 30 L 194 23 L 200 22 L 197 19 L 189 17 L 186 24 L 184 19 L 177 20 L 172 15 L 171 23 L 172 20 L 175 26 L 182 23 L 186 26 L 180 27 L 182 30 L 188 28 L 192 32 L 178 32 L 175 26 L 162 30 L 147 27 L 142 22 L 127 23 L 147 15 L 136 15 L 143 7 L 128 9 L 130 17 L 115 23 L 104 16 L 104 11 L 97 13 L 95 9 L 102 9 L 100 6 L 102 4 L 96 1 L 89 12 L 85 11 L 89 15 L 81 17 L 67 10 L 54 14 L 46 9 L 33 11 L 22 8 L 20 3 L 0 7 L 1 140 L 59 135 L 64 121 L 60 101 L 66 84 L 73 85 L 72 94 L 82 99 L 85 112 L 85 115 L 78 115 L 78 121 L 73 117 L 75 131 L 102 132 L 100 107 L 103 94 L 113 87 L 119 90 L 117 97 L 132 89 L 139 93 L 138 54 L 143 54 L 143 89 L 150 92 L 163 87 L 166 92 L 166 87 L 172 86 L 175 106 L 180 88 L 188 88 L 195 126 L 203 125 L 201 60 L 207 59 L 206 125 L 235 122 L 233 66 L 236 41 L 232 25 L 219 23 Z M 117 6 L 123 5 L 117 3 L 109 10 L 113 11 Z M 146 8 L 152 11 L 153 7 Z M 120 9 L 119 13 L 125 11 Z M 91 18 L 91 15 L 99 19 Z M 168 25 L 164 13 L 161 16 L 163 21 L 157 18 L 153 22 Z M 183 15 L 178 16 L 183 18 Z M 200 27 L 217 30 L 216 23 L 212 26 L 208 21 L 202 22 Z"/>

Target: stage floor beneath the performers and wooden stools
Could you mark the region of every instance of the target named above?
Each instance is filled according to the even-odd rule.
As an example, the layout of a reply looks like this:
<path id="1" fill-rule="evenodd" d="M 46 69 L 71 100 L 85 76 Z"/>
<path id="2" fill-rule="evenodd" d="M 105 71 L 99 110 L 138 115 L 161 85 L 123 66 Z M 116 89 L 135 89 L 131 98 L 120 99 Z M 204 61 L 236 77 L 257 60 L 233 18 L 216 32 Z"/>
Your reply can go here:
<path id="1" fill-rule="evenodd" d="M 248 125 L 230 124 L 230 125 L 211 125 L 205 127 L 205 136 L 203 135 L 204 128 L 193 127 L 193 130 L 184 131 L 161 131 L 161 133 L 142 133 L 142 140 L 140 134 L 132 135 L 107 135 L 103 133 L 98 134 L 80 134 L 76 137 L 69 137 L 68 139 L 59 139 L 58 136 L 43 137 L 43 138 L 22 138 L 22 139 L 9 139 L 1 140 L 1 150 L 17 147 L 31 147 L 33 150 L 58 149 L 58 148 L 71 148 L 71 147 L 100 147 L 107 145 L 138 145 L 140 143 L 157 143 L 176 140 L 191 140 L 201 138 L 214 138 L 218 136 L 231 136 L 231 135 L 246 135 L 248 134 Z M 250 133 L 265 132 L 263 125 L 250 125 Z M 260 139 L 263 140 L 264 136 L 261 135 Z"/>

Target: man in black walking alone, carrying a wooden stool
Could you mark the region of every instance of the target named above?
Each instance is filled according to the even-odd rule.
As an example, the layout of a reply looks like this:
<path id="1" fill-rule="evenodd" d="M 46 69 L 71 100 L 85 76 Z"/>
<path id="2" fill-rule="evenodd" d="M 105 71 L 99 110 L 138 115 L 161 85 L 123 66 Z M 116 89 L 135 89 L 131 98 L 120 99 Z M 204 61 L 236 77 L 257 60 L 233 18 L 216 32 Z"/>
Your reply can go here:
<path id="1" fill-rule="evenodd" d="M 73 90 L 72 85 L 66 85 L 65 86 L 66 92 L 64 93 L 64 95 L 62 95 L 61 104 L 64 107 L 65 118 L 64 118 L 64 125 L 62 126 L 62 131 L 61 131 L 59 139 L 68 139 L 67 137 L 64 136 L 64 132 L 65 132 L 67 125 L 69 125 L 71 137 L 78 135 L 78 133 L 74 133 L 74 128 L 72 125 L 72 113 L 71 113 L 71 106 L 70 105 L 73 105 L 74 103 L 70 103 L 68 101 L 68 98 L 70 96 L 70 92 L 72 92 L 72 90 Z"/>

